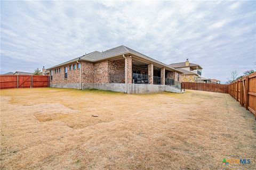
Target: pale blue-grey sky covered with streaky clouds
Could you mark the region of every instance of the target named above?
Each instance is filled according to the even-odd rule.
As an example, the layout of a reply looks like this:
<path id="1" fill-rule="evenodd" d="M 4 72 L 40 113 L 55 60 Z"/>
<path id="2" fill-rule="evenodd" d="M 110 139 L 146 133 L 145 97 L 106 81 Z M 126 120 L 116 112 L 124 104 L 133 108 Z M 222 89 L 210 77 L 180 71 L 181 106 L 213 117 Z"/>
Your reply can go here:
<path id="1" fill-rule="evenodd" d="M 125 45 L 226 82 L 255 69 L 255 1 L 1 1 L 1 73 Z"/>

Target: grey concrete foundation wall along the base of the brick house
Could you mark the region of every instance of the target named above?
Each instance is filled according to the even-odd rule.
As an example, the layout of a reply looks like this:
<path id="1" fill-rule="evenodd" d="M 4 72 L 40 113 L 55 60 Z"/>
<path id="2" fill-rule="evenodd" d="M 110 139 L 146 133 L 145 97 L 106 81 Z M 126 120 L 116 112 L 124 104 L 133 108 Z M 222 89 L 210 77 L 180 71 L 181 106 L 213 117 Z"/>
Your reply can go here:
<path id="1" fill-rule="evenodd" d="M 51 84 L 50 87 L 79 89 L 79 83 Z M 124 83 L 82 83 L 82 89 L 98 89 L 98 90 L 111 90 L 111 91 L 124 92 L 125 84 Z M 170 86 L 166 86 L 166 85 L 127 84 L 128 94 L 150 94 L 150 93 L 157 93 L 157 92 L 163 92 L 163 91 L 180 93 L 180 90 L 172 88 Z"/>

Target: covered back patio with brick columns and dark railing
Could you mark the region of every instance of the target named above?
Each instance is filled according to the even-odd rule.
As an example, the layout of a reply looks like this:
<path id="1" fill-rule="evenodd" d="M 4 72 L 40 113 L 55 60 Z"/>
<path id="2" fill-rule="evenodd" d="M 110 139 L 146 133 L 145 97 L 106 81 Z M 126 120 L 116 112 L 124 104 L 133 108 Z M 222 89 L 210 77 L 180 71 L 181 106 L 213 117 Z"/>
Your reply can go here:
<path id="1" fill-rule="evenodd" d="M 111 68 L 109 69 L 109 83 L 125 83 L 124 58 L 109 61 L 109 67 Z M 127 83 L 129 84 L 166 84 L 170 86 L 175 84 L 175 72 L 173 70 L 139 60 L 131 55 L 127 56 L 126 72 Z"/>

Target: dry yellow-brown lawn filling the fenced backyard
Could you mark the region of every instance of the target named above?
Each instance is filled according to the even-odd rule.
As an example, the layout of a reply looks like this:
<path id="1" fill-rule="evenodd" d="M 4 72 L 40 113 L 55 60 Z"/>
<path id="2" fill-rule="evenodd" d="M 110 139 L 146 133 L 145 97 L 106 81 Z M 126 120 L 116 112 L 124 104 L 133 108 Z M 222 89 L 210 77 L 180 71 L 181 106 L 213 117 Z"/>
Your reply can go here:
<path id="1" fill-rule="evenodd" d="M 228 94 L 1 90 L 1 169 L 255 169 L 255 150 L 256 121 Z"/>

